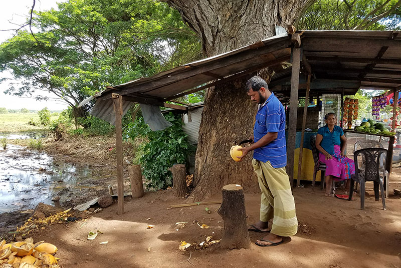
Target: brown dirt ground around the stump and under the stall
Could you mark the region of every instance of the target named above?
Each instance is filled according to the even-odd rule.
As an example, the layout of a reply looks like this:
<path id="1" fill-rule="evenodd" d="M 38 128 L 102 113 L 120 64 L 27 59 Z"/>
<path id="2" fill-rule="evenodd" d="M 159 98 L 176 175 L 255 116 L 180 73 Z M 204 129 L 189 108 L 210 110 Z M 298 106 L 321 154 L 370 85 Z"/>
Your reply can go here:
<path id="1" fill-rule="evenodd" d="M 392 177 L 390 188 L 399 187 L 401 177 Z M 390 194 L 387 210 L 382 210 L 374 196 L 367 197 L 365 210 L 360 210 L 358 196 L 354 201 L 325 197 L 318 187 L 309 185 L 294 189 L 294 197 L 298 233 L 275 247 L 252 244 L 250 249 L 226 250 L 214 244 L 179 251 L 180 241 L 199 243 L 207 236 L 220 239 L 224 223 L 217 212 L 206 213 L 205 206 L 167 209 L 185 201 L 173 197 L 171 190 L 126 198 L 122 216 L 117 215 L 115 203 L 86 221 L 53 225 L 34 238 L 56 244 L 63 267 L 401 267 L 399 197 Z M 250 224 L 258 220 L 259 198 L 259 194 L 245 196 Z M 215 211 L 219 205 L 208 207 Z M 194 220 L 210 228 L 201 229 Z M 177 231 L 175 223 L 182 221 L 188 223 Z M 148 224 L 155 227 L 147 229 Z M 88 232 L 96 230 L 103 234 L 87 240 Z M 250 233 L 252 242 L 261 236 Z M 108 243 L 100 244 L 103 241 Z M 185 261 L 189 257 L 191 263 Z"/>

